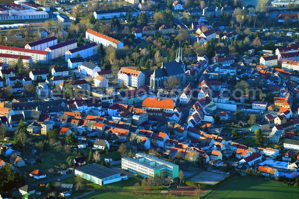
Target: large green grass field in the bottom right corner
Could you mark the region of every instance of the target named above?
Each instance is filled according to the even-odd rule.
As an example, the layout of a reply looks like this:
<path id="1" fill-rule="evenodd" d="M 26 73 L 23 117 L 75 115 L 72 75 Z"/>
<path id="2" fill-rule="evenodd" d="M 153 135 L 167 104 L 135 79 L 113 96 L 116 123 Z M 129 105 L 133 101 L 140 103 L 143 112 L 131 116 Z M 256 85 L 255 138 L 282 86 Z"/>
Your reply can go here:
<path id="1" fill-rule="evenodd" d="M 205 198 L 288 198 L 299 196 L 299 189 L 259 178 L 238 177 L 212 191 Z"/>

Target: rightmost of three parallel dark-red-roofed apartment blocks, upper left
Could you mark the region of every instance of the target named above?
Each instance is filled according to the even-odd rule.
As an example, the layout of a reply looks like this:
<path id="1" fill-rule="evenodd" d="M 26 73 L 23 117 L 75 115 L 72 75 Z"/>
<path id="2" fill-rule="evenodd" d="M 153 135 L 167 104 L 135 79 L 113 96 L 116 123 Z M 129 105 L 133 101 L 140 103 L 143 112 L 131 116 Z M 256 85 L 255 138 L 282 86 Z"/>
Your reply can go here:
<path id="1" fill-rule="evenodd" d="M 67 62 L 69 58 L 77 57 L 77 55 L 82 58 L 90 57 L 97 54 L 97 44 L 95 42 L 67 50 L 65 52 L 65 61 Z"/>

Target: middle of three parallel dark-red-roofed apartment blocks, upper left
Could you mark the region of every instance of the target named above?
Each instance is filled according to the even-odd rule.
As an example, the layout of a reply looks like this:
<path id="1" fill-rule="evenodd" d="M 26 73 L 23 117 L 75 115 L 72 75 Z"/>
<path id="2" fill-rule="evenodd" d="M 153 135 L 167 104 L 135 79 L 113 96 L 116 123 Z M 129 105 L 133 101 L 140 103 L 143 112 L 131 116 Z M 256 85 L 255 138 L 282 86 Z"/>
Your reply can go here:
<path id="1" fill-rule="evenodd" d="M 49 46 L 45 49 L 45 51 L 50 52 L 50 59 L 55 59 L 57 57 L 64 56 L 66 51 L 74 48 L 77 48 L 77 41 L 75 39 L 71 39 L 54 46 Z"/>

